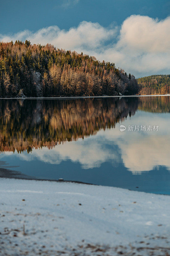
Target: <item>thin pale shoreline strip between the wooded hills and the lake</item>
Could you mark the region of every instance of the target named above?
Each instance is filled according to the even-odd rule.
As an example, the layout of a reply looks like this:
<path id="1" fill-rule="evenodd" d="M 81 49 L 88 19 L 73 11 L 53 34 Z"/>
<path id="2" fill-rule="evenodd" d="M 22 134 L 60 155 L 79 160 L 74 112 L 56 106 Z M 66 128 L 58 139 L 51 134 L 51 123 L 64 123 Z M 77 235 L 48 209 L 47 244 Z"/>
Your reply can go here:
<path id="1" fill-rule="evenodd" d="M 75 97 L 25 97 L 25 98 L 0 98 L 0 99 L 84 99 L 84 98 L 122 98 L 122 97 L 149 97 L 149 96 L 170 96 L 170 94 L 150 94 L 150 95 L 122 95 L 122 96 L 75 96 Z"/>

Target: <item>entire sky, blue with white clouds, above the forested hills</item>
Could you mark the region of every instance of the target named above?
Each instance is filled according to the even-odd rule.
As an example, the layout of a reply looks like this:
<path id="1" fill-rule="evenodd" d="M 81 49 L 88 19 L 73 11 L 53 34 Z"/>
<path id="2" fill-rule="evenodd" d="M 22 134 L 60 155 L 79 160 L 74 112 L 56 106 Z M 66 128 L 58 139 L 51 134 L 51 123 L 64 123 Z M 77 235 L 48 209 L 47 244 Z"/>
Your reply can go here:
<path id="1" fill-rule="evenodd" d="M 0 40 L 8 41 L 10 39 L 15 40 L 16 38 L 25 40 L 27 37 L 27 39 L 31 39 L 31 43 L 52 43 L 59 48 L 63 45 L 62 48 L 76 50 L 78 52 L 83 51 L 89 55 L 95 55 L 99 60 L 113 60 L 117 67 L 122 67 L 126 69 L 127 72 L 134 73 L 137 77 L 155 73 L 163 74 L 169 71 L 169 67 L 166 67 L 170 66 L 168 65 L 166 48 L 166 45 L 169 44 L 169 36 L 167 34 L 170 34 L 167 31 L 169 26 L 167 17 L 169 13 L 170 1 L 167 0 L 0 0 Z M 135 15 L 134 17 L 136 18 L 131 19 L 130 22 L 128 19 L 131 15 Z M 144 19 L 141 19 L 141 17 Z M 150 20 L 148 20 L 147 17 L 149 17 Z M 82 21 L 86 22 L 83 23 L 83 26 L 81 25 Z M 162 23 L 163 21 L 164 24 Z M 157 36 L 159 37 L 159 34 L 162 33 L 161 30 L 165 30 L 165 34 L 161 35 L 161 37 L 163 41 L 167 41 L 166 45 L 164 46 L 163 43 L 161 46 L 160 38 L 159 42 L 155 44 L 163 47 L 164 51 L 162 52 L 162 50 L 159 51 L 158 48 L 155 48 L 155 52 L 159 52 L 159 56 L 156 56 L 144 42 L 146 47 L 144 46 L 142 49 L 137 46 L 137 51 L 134 53 L 136 45 L 134 46 L 133 42 L 128 41 L 128 43 L 127 40 L 129 39 L 127 37 L 125 38 L 126 40 L 122 38 L 125 34 L 133 34 L 132 31 L 129 31 L 128 27 L 123 25 L 124 22 L 125 25 L 131 27 L 135 22 L 135 24 L 137 24 L 136 26 L 141 30 L 142 40 L 144 35 L 147 35 L 146 37 L 150 36 L 148 27 L 153 25 L 153 29 L 151 27 L 151 30 L 155 30 L 155 33 L 152 35 L 152 38 L 150 38 L 151 44 L 152 41 L 153 44 L 155 44 L 154 42 L 157 40 Z M 162 24 L 161 29 L 159 28 L 160 24 Z M 43 36 L 37 37 L 38 31 L 41 30 L 42 32 L 43 28 L 48 28 L 48 31 L 46 31 Z M 83 38 L 81 44 L 73 42 L 73 38 L 69 37 L 72 28 L 74 28 L 74 38 L 76 38 L 77 35 L 78 41 L 81 41 L 79 39 Z M 147 30 L 146 33 L 144 32 L 145 29 Z M 86 31 L 85 34 L 83 34 L 84 30 Z M 121 32 L 122 30 L 124 32 Z M 91 35 L 96 35 L 96 38 L 91 36 L 90 39 L 87 35 L 88 31 Z M 137 31 L 137 27 L 134 28 L 134 31 Z M 142 35 L 142 33 L 144 33 L 144 35 Z M 102 36 L 99 36 L 99 34 L 102 34 Z M 132 35 L 132 38 L 133 37 L 134 35 Z M 44 40 L 45 38 L 47 40 Z M 51 40 L 51 38 L 53 40 Z M 122 39 L 120 40 L 120 38 Z M 70 41 L 72 42 L 71 44 Z M 130 49 L 128 44 L 131 44 L 133 47 Z M 123 55 L 119 47 L 120 45 L 123 47 Z M 111 54 L 109 54 L 108 51 L 110 51 Z M 133 54 L 132 58 L 129 57 L 128 52 Z M 127 58 L 129 64 L 124 62 L 125 58 Z M 147 61 L 148 58 L 152 60 L 152 63 L 149 64 L 149 68 L 147 65 L 146 68 L 144 68 L 143 63 Z M 160 62 L 164 60 L 164 58 L 165 64 L 161 66 Z M 154 65 L 155 59 L 160 63 L 160 68 L 157 67 L 158 65 Z M 142 62 L 142 66 L 134 65 L 134 61 L 137 63 Z M 139 70 L 140 68 L 142 68 L 142 71 Z"/>

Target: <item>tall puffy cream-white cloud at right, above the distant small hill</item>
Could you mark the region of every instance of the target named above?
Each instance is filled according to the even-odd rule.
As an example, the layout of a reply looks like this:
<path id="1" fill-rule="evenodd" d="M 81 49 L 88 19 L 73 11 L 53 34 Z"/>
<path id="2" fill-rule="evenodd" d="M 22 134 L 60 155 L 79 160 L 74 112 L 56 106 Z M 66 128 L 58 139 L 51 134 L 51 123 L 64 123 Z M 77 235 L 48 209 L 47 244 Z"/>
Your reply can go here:
<path id="1" fill-rule="evenodd" d="M 170 17 L 154 20 L 147 16 L 132 15 L 120 30 L 115 51 L 123 68 L 137 75 L 169 73 L 170 66 Z"/>

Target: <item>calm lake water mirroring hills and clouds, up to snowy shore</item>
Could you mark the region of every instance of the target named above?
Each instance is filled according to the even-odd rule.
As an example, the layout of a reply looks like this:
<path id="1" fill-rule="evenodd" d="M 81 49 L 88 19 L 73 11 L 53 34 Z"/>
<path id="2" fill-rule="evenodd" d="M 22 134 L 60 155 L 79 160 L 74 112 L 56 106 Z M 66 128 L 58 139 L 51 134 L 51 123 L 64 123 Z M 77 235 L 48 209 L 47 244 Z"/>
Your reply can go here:
<path id="1" fill-rule="evenodd" d="M 170 194 L 170 97 L 0 100 L 0 152 L 1 177 Z"/>

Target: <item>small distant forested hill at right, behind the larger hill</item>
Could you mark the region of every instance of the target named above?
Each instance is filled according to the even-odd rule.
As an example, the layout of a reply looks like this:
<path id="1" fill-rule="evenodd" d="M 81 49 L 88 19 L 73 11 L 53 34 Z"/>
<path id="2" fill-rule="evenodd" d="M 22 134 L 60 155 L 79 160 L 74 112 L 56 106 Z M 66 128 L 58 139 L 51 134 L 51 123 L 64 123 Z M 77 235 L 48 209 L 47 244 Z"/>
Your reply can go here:
<path id="1" fill-rule="evenodd" d="M 170 75 L 153 75 L 138 78 L 140 94 L 170 93 Z"/>

